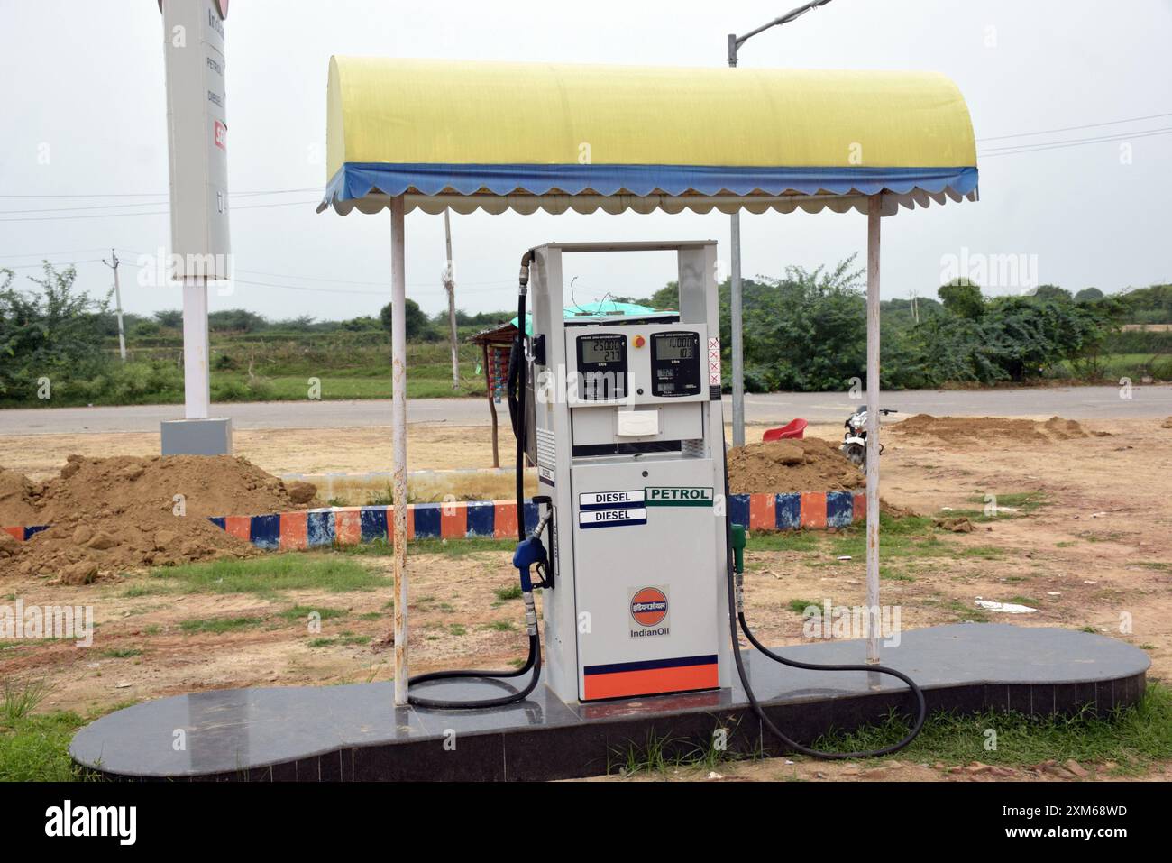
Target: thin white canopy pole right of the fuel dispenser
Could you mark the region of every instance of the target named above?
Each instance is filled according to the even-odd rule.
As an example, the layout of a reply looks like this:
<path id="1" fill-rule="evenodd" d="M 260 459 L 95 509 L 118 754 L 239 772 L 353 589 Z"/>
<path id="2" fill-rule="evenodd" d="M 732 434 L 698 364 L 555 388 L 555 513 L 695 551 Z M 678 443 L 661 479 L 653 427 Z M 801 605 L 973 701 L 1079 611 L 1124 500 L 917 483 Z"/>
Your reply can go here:
<path id="1" fill-rule="evenodd" d="M 879 211 L 867 199 L 867 662 L 879 661 Z"/>

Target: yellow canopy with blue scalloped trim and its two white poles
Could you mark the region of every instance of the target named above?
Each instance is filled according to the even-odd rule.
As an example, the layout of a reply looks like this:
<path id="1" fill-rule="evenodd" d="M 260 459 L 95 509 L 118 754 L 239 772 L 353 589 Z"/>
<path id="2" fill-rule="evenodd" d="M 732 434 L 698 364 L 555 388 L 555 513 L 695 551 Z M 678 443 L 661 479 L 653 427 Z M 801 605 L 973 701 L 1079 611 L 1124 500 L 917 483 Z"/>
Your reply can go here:
<path id="1" fill-rule="evenodd" d="M 506 124 L 497 122 L 493 102 Z M 647 127 L 645 114 L 667 128 Z M 452 136 L 457 123 L 463 134 Z M 900 206 L 976 199 L 972 124 L 952 82 L 911 73 L 334 57 L 328 125 L 331 176 L 319 211 L 390 211 L 396 705 L 407 704 L 409 632 L 404 216 L 416 208 L 865 212 L 867 660 L 879 661 L 880 219 Z M 606 164 L 565 157 L 575 141 L 595 140 L 613 157 Z M 819 151 L 833 155 L 819 163 L 811 155 Z M 860 167 L 860 154 L 881 167 Z M 592 169 L 609 193 L 591 185 Z"/>

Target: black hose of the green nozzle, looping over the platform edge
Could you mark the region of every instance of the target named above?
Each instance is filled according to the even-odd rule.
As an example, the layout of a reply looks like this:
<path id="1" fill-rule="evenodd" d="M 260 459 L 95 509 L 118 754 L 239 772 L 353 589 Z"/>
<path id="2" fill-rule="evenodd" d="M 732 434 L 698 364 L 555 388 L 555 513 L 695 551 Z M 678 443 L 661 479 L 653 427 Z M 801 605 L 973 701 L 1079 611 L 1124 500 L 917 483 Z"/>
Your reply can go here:
<path id="1" fill-rule="evenodd" d="M 723 443 L 723 441 L 722 441 Z M 729 496 L 729 471 L 728 471 L 728 447 L 722 447 L 724 457 L 724 500 L 730 501 Z M 775 738 L 781 740 L 785 746 L 788 746 L 793 752 L 802 753 L 803 755 L 810 755 L 816 759 L 825 759 L 827 761 L 843 761 L 846 759 L 867 759 L 877 757 L 880 755 L 891 755 L 894 752 L 899 752 L 905 746 L 911 743 L 915 735 L 920 733 L 924 727 L 924 721 L 927 719 L 928 711 L 924 702 L 924 691 L 920 689 L 919 685 L 912 680 L 907 674 L 901 671 L 895 671 L 894 668 L 888 668 L 885 665 L 822 665 L 815 662 L 799 662 L 796 659 L 786 659 L 774 651 L 765 647 L 761 641 L 757 640 L 756 636 L 752 634 L 752 630 L 749 628 L 748 621 L 744 619 L 744 612 L 738 610 L 740 603 L 737 602 L 737 585 L 735 565 L 732 563 L 732 516 L 731 509 L 725 507 L 724 517 L 724 541 L 728 548 L 728 591 L 729 591 L 729 634 L 732 638 L 732 660 L 736 665 L 737 674 L 741 678 L 741 686 L 744 687 L 744 694 L 749 699 L 749 706 L 752 712 L 761 720 L 761 723 L 772 734 Z M 781 662 L 782 665 L 788 665 L 791 668 L 802 668 L 805 671 L 865 671 L 865 672 L 877 672 L 879 674 L 890 674 L 892 677 L 899 678 L 915 695 L 917 701 L 917 716 L 915 723 L 912 726 L 912 731 L 902 740 L 892 743 L 891 746 L 885 746 L 881 749 L 868 749 L 863 752 L 820 752 L 819 749 L 811 749 L 809 746 L 803 746 L 789 738 L 781 728 L 774 725 L 774 721 L 769 719 L 765 714 L 765 709 L 761 706 L 757 700 L 757 695 L 752 691 L 752 686 L 749 685 L 749 675 L 744 670 L 744 659 L 741 657 L 740 639 L 737 638 L 737 625 L 740 624 L 741 630 L 744 632 L 745 638 L 749 639 L 749 644 L 756 647 L 758 651 L 764 653 L 766 657 L 772 659 L 775 662 Z"/>

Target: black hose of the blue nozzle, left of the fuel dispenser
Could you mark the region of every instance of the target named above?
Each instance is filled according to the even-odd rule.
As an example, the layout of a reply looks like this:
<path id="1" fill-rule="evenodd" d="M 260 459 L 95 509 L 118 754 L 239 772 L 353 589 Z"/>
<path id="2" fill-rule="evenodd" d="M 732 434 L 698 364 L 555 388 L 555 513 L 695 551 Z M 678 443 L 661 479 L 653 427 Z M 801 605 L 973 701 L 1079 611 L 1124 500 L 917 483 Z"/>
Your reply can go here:
<path id="1" fill-rule="evenodd" d="M 529 285 L 530 260 L 532 260 L 532 252 L 526 252 L 522 259 L 520 290 L 517 299 L 517 338 L 513 339 L 512 351 L 509 354 L 509 378 L 505 390 L 509 399 L 509 413 L 512 417 L 513 433 L 517 435 L 517 537 L 522 542 L 525 541 L 525 293 Z M 408 695 L 407 702 L 415 707 L 431 707 L 442 711 L 471 711 L 481 707 L 503 707 L 504 705 L 524 701 L 537 688 L 537 681 L 541 677 L 541 637 L 537 633 L 530 634 L 529 658 L 525 660 L 525 665 L 516 671 L 432 671 L 409 678 L 407 685 L 411 687 L 416 684 L 425 684 L 429 680 L 477 678 L 507 680 L 510 678 L 519 678 L 531 671 L 533 675 L 530 678 L 529 684 L 525 685 L 525 688 L 511 695 L 485 698 L 476 701 L 450 701 Z"/>

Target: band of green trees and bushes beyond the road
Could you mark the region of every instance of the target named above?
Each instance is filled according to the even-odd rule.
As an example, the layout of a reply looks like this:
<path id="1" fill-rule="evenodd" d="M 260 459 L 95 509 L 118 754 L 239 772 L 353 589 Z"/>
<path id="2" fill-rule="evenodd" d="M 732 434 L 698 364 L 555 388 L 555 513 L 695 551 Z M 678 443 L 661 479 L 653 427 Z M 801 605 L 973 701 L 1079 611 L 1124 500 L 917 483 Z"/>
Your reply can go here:
<path id="1" fill-rule="evenodd" d="M 117 358 L 109 297 L 91 299 L 73 267 L 16 285 L 0 269 L 0 403 L 30 406 L 177 403 L 183 399 L 182 314 L 124 315 L 130 360 Z M 745 385 L 769 389 L 841 390 L 864 376 L 863 270 L 852 256 L 833 269 L 788 267 L 745 279 Z M 720 286 L 721 337 L 731 344 L 729 281 Z M 886 300 L 881 306 L 883 383 L 888 389 L 948 383 L 1027 381 L 1038 376 L 1118 380 L 1172 378 L 1172 285 L 1102 295 L 1042 285 L 1028 295 L 984 297 L 954 280 L 939 300 Z M 645 299 L 676 306 L 669 283 Z M 429 317 L 408 301 L 408 396 L 485 392 L 476 332 L 512 312 L 457 312 L 461 380 L 451 386 L 447 311 Z M 209 315 L 212 400 L 386 399 L 390 390 L 389 306 L 350 320 L 268 320 L 243 308 Z M 1125 328 L 1131 325 L 1132 328 Z M 725 348 L 728 349 L 728 348 Z M 725 374 L 730 365 L 725 363 Z"/>

